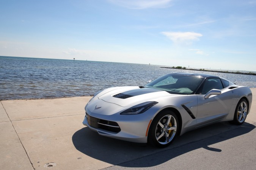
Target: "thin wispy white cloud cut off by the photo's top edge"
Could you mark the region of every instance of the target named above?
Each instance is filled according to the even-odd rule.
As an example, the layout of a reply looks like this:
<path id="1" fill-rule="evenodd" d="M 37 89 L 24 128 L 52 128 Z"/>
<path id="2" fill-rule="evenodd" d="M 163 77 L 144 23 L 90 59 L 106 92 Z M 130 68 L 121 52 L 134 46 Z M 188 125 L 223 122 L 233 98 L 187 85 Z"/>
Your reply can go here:
<path id="1" fill-rule="evenodd" d="M 109 2 L 130 9 L 168 8 L 172 0 L 108 0 Z"/>

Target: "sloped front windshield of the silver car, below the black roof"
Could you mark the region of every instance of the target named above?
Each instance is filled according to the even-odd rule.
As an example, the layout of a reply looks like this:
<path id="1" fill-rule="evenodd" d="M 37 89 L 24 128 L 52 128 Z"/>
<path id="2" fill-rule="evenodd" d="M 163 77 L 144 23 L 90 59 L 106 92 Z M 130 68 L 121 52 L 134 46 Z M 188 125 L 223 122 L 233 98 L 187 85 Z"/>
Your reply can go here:
<path id="1" fill-rule="evenodd" d="M 144 87 L 164 90 L 171 94 L 194 94 L 203 80 L 204 78 L 201 76 L 166 74 L 149 82 Z"/>

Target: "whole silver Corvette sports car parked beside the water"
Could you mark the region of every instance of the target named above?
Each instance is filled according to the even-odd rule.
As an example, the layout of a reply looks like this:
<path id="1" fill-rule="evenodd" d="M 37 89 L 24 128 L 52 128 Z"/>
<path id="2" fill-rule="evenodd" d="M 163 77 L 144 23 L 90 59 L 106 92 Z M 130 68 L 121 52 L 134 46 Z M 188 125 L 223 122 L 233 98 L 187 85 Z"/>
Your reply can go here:
<path id="1" fill-rule="evenodd" d="M 145 86 L 99 91 L 85 106 L 83 124 L 103 136 L 166 147 L 195 128 L 242 124 L 251 102 L 250 88 L 221 77 L 171 73 Z"/>

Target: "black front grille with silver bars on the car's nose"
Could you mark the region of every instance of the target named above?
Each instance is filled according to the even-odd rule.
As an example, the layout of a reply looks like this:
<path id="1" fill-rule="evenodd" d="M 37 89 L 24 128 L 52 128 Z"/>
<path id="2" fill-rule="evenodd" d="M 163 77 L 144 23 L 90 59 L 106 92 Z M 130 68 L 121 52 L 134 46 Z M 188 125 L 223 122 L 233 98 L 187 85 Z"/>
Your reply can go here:
<path id="1" fill-rule="evenodd" d="M 119 127 L 118 123 L 113 122 L 113 121 L 107 121 L 104 119 L 98 119 L 96 117 L 92 117 L 89 114 L 86 113 L 87 121 L 88 124 L 91 127 L 94 128 L 102 128 L 108 131 L 113 131 L 113 132 L 119 132 L 121 131 L 121 128 Z"/>

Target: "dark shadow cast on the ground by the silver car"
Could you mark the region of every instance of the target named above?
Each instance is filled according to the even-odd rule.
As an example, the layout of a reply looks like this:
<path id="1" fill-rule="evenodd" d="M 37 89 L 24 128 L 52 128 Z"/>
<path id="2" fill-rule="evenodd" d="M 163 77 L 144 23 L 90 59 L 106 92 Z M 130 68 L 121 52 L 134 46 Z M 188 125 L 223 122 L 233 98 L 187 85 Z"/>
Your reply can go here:
<path id="1" fill-rule="evenodd" d="M 177 136 L 175 141 L 166 148 L 155 148 L 147 144 L 101 136 L 88 127 L 84 127 L 73 134 L 72 142 L 75 148 L 83 154 L 109 164 L 122 167 L 152 167 L 198 148 L 221 152 L 220 149 L 209 147 L 209 145 L 249 133 L 254 128 L 254 125 L 246 122 L 240 126 L 221 122 Z M 161 153 L 165 151 L 169 154 Z M 158 159 L 151 158 L 150 155 L 155 154 Z M 140 159 L 146 163 L 141 164 Z"/>

